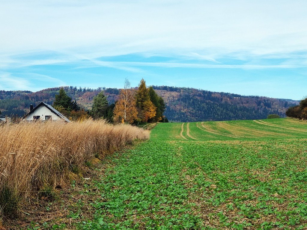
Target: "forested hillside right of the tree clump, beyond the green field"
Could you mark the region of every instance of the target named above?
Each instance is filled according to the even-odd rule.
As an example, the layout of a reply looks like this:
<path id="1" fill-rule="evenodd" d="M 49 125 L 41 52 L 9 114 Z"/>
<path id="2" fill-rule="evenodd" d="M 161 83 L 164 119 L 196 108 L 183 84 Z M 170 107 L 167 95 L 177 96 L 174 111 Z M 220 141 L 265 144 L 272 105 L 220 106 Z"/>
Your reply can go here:
<path id="1" fill-rule="evenodd" d="M 299 101 L 218 93 L 192 88 L 153 86 L 164 98 L 164 115 L 172 121 L 229 121 L 264 119 L 276 113 L 285 117 L 287 108 Z"/>

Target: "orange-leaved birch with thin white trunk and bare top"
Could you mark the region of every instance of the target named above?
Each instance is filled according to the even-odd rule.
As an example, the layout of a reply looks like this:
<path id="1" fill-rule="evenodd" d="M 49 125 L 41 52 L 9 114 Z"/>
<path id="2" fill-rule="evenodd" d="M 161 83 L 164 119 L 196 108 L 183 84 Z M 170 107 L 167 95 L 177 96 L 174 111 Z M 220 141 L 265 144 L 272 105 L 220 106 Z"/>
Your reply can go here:
<path id="1" fill-rule="evenodd" d="M 119 100 L 115 104 L 113 113 L 116 122 L 132 124 L 138 119 L 134 91 L 130 89 L 128 79 L 125 79 L 124 89 L 119 91 Z"/>

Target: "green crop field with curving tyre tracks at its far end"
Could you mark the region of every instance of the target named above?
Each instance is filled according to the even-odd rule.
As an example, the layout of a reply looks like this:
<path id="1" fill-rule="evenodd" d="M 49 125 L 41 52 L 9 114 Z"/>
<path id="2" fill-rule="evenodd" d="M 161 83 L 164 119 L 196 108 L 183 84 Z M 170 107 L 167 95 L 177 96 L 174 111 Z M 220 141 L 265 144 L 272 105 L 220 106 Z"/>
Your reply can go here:
<path id="1" fill-rule="evenodd" d="M 160 123 L 113 155 L 77 229 L 307 229 L 307 122 Z"/>

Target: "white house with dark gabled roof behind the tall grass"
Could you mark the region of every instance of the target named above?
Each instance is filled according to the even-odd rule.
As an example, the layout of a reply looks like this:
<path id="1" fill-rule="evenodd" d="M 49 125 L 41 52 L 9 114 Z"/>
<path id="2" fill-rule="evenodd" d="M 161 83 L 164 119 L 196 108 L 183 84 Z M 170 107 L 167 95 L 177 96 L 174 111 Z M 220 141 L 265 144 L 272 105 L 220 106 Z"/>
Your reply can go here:
<path id="1" fill-rule="evenodd" d="M 33 108 L 33 105 L 30 105 L 30 112 L 25 115 L 26 121 L 66 121 L 70 122 L 62 113 L 54 109 L 51 105 L 46 104 L 45 102 L 39 103 Z"/>

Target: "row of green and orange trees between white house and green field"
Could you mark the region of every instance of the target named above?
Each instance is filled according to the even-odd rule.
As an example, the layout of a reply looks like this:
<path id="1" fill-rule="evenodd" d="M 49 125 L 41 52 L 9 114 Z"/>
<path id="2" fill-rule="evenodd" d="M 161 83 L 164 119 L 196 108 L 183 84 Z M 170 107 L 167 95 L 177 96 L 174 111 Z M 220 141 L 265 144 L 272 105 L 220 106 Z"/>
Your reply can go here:
<path id="1" fill-rule="evenodd" d="M 101 91 L 94 96 L 93 105 L 87 111 L 60 88 L 59 94 L 55 95 L 53 107 L 71 120 L 92 117 L 104 118 L 111 123 L 168 122 L 163 116 L 165 110 L 163 98 L 157 95 L 153 87 L 147 88 L 144 79 L 141 80 L 137 90 L 131 88 L 130 82 L 126 79 L 124 89 L 119 90 L 119 100 L 115 103 L 109 104 L 104 92 Z"/>

